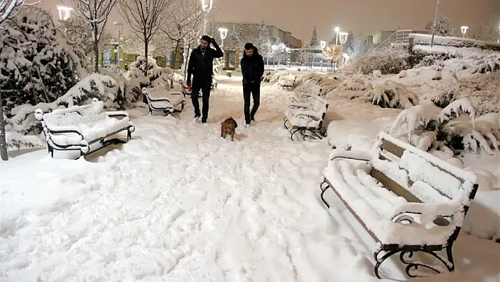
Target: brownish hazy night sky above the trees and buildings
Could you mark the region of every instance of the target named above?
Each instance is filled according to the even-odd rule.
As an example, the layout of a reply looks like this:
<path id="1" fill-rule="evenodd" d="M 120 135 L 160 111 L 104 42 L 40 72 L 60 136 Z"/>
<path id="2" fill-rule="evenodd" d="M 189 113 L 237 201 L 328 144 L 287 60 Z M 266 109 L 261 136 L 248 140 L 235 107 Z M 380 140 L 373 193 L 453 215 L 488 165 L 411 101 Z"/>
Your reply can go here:
<path id="1" fill-rule="evenodd" d="M 460 36 L 460 25 L 468 25 L 470 34 L 489 16 L 492 2 L 497 0 L 441 0 L 439 11 L 451 18 Z M 57 15 L 57 4 L 69 0 L 42 0 L 40 5 Z M 333 27 L 340 26 L 355 36 L 363 37 L 378 30 L 424 30 L 429 20 L 434 20 L 436 0 L 214 0 L 213 16 L 220 21 L 264 20 L 276 25 L 302 40 L 309 40 L 316 25 L 320 40 L 329 40 Z M 109 19 L 121 20 L 118 10 Z M 124 28 L 124 36 L 127 36 Z"/>

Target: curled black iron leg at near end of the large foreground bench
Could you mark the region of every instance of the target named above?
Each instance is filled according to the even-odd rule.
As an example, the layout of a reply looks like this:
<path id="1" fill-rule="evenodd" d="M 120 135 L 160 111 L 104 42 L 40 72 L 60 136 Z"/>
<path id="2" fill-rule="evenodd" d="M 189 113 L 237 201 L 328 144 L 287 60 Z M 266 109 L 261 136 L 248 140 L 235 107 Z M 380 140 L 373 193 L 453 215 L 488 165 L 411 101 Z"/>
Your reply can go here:
<path id="1" fill-rule="evenodd" d="M 399 259 L 403 264 L 406 265 L 405 267 L 405 273 L 408 277 L 415 278 L 415 277 L 424 277 L 422 275 L 418 274 L 412 274 L 413 270 L 419 270 L 419 267 L 422 269 L 428 269 L 431 271 L 436 272 L 436 274 L 440 274 L 441 271 L 439 269 L 442 269 L 441 267 L 438 267 L 436 265 L 427 265 L 427 264 L 422 264 L 422 262 L 417 262 L 417 261 L 412 261 L 410 260 L 411 257 L 413 257 L 414 252 L 421 252 L 425 254 L 430 254 L 432 257 L 435 259 L 438 259 L 441 264 L 443 264 L 448 271 L 454 271 L 455 270 L 455 262 L 453 262 L 453 253 L 451 251 L 451 248 L 453 247 L 453 243 L 450 243 L 449 245 L 446 245 L 446 247 L 443 249 L 446 252 L 446 258 L 440 256 L 434 251 L 427 250 L 427 249 L 419 249 L 417 251 L 409 251 L 406 249 L 395 249 L 391 251 L 383 251 L 379 250 L 378 252 L 374 253 L 374 258 L 376 261 L 376 264 L 374 266 L 374 272 L 377 278 L 381 279 L 381 276 L 379 274 L 379 268 L 381 264 L 386 261 L 389 257 L 391 257 L 393 254 L 399 254 Z M 379 254 L 382 254 L 383 256 L 380 257 Z"/>

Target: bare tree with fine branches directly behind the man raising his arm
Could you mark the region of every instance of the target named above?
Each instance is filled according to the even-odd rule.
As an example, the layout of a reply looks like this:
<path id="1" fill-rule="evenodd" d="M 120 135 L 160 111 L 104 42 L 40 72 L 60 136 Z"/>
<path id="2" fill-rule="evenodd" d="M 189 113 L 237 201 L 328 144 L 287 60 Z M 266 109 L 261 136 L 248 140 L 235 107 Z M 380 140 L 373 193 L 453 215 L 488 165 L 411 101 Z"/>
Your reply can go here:
<path id="1" fill-rule="evenodd" d="M 193 30 L 200 28 L 206 13 L 197 0 L 174 0 L 171 7 L 167 11 L 167 21 L 160 30 L 175 42 L 173 60 L 179 52 L 181 40 Z"/>

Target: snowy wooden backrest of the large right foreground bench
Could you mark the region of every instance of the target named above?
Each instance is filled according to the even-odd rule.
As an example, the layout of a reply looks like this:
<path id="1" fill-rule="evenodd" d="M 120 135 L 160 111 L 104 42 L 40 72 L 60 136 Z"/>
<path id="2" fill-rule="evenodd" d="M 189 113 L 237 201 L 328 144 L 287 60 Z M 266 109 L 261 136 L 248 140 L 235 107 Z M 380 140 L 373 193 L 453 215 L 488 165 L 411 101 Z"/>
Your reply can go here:
<path id="1" fill-rule="evenodd" d="M 379 180 L 394 194 L 410 203 L 429 203 L 435 213 L 456 211 L 463 216 L 453 218 L 458 227 L 451 235 L 456 239 L 470 200 L 477 192 L 477 179 L 473 172 L 462 170 L 415 146 L 395 139 L 384 132 L 374 144 L 371 176 Z M 448 214 L 439 214 L 446 216 Z"/>

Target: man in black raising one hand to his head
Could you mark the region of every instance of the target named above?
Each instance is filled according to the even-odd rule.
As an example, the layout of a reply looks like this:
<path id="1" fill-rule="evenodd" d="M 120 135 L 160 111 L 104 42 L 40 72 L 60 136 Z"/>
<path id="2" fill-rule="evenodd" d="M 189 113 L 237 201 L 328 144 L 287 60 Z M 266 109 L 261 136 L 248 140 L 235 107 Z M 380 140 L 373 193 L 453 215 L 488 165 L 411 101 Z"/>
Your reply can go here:
<path id="1" fill-rule="evenodd" d="M 213 44 L 215 50 L 210 48 L 210 43 Z M 198 102 L 198 95 L 203 93 L 201 109 L 201 123 L 205 124 L 208 117 L 208 100 L 210 99 L 210 87 L 212 86 L 213 75 L 213 59 L 221 58 L 224 54 L 220 49 L 215 39 L 203 35 L 200 40 L 200 45 L 193 49 L 189 57 L 187 69 L 187 86 L 191 86 L 191 75 L 194 76 L 191 87 L 191 102 L 194 107 L 194 118 L 200 118 L 200 105 Z"/>

